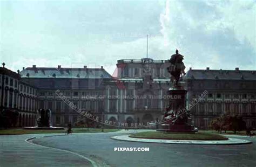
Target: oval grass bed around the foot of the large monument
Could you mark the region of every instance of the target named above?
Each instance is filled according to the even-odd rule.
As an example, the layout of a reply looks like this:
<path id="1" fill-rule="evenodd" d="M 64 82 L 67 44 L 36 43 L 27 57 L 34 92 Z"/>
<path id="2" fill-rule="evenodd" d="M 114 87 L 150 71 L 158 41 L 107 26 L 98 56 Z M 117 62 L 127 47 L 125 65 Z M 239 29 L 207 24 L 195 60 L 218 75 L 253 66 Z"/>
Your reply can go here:
<path id="1" fill-rule="evenodd" d="M 154 138 L 154 139 L 167 139 L 167 140 L 227 140 L 225 136 L 213 133 L 204 133 L 199 131 L 197 134 L 185 133 L 162 133 L 159 131 L 145 131 L 129 135 L 135 138 Z"/>

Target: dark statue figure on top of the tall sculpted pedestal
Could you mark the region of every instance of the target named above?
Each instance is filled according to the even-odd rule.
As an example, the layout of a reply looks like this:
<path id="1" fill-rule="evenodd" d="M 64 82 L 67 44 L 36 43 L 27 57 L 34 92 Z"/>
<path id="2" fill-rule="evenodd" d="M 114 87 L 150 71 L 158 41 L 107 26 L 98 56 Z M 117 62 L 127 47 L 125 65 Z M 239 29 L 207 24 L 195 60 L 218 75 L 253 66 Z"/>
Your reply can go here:
<path id="1" fill-rule="evenodd" d="M 167 68 L 167 71 L 171 74 L 171 83 L 173 83 L 174 87 L 178 87 L 180 74 L 186 74 L 184 71 L 186 67 L 183 63 L 183 57 L 176 49 L 176 54 L 171 55 L 171 59 L 169 60 L 171 65 Z"/>

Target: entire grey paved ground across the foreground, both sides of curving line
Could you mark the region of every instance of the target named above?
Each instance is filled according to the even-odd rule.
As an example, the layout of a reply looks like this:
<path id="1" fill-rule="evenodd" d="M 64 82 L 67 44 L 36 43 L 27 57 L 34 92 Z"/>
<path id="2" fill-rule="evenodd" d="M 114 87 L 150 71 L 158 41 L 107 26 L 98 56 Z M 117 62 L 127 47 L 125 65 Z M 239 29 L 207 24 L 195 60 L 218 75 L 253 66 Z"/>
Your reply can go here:
<path id="1" fill-rule="evenodd" d="M 33 142 L 76 152 L 105 166 L 256 166 L 256 137 L 245 137 L 254 142 L 248 145 L 179 145 L 110 139 L 117 134 L 119 133 L 74 134 L 36 138 Z M 11 140 L 17 141 L 18 138 L 0 136 L 0 144 L 3 144 L 0 148 L 0 166 L 14 166 L 16 163 L 21 166 L 26 163 L 29 166 L 89 165 L 85 159 L 67 152 L 22 142 L 28 135 L 20 136 L 23 137 L 17 137 L 21 141 L 18 143 L 21 147 L 12 145 L 14 143 Z M 5 144 L 8 138 L 12 138 L 9 140 L 10 144 Z M 24 144 L 26 147 L 22 146 Z M 114 151 L 115 147 L 149 147 L 150 151 Z"/>

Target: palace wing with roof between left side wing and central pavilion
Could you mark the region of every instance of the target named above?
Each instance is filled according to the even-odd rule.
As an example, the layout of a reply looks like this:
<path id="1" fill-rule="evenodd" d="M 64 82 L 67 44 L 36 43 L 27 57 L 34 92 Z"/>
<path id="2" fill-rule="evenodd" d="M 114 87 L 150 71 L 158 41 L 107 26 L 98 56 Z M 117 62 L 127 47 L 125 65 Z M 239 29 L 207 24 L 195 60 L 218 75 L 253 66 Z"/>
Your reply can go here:
<path id="1" fill-rule="evenodd" d="M 50 109 L 53 126 L 65 126 L 69 122 L 75 124 L 79 113 L 68 105 L 71 101 L 77 109 L 90 111 L 100 116 L 105 107 L 106 86 L 104 82 L 112 80 L 109 73 L 101 68 L 56 68 L 32 67 L 21 71 L 24 82 L 38 87 L 38 108 Z M 65 95 L 60 99 L 56 91 Z"/>

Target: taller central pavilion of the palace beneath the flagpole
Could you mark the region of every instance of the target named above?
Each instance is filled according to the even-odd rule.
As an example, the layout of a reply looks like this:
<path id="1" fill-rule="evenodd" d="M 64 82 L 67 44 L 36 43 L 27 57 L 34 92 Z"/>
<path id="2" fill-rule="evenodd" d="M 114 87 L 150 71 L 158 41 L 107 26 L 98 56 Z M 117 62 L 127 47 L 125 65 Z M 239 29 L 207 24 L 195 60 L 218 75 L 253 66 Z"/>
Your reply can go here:
<path id="1" fill-rule="evenodd" d="M 170 88 L 166 60 L 117 61 L 117 76 L 107 82 L 107 117 L 111 121 L 148 123 L 161 120 L 168 105 L 163 98 Z"/>

